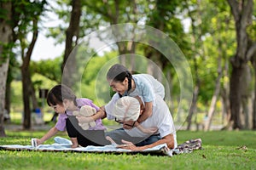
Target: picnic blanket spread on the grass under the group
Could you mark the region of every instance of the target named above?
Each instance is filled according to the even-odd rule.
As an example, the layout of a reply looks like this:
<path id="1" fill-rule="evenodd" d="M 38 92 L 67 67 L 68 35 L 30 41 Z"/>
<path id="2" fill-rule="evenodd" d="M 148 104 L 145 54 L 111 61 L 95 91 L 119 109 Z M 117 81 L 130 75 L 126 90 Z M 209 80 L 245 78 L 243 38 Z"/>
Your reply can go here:
<path id="1" fill-rule="evenodd" d="M 143 154 L 154 156 L 173 156 L 181 153 L 190 153 L 193 150 L 201 149 L 201 139 L 188 140 L 184 144 L 180 144 L 176 149 L 170 150 L 166 144 L 160 144 L 149 148 L 147 150 L 132 151 L 117 148 L 114 144 L 105 146 L 92 146 L 71 148 L 71 141 L 61 137 L 55 137 L 54 144 L 40 144 L 38 146 L 21 145 L 21 144 L 8 144 L 0 145 L 0 150 L 30 150 L 30 151 L 71 151 L 71 152 L 84 152 L 84 153 L 113 153 L 113 154 Z M 191 147 L 192 146 L 192 147 Z"/>

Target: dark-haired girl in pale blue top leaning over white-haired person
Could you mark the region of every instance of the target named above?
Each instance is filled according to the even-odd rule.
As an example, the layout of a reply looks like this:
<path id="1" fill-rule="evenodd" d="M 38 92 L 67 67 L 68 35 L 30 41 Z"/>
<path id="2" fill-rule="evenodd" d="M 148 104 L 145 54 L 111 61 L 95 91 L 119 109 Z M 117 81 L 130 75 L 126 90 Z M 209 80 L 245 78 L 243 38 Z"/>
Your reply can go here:
<path id="1" fill-rule="evenodd" d="M 115 91 L 119 98 L 123 96 L 142 96 L 145 109 L 139 116 L 137 122 L 145 121 L 152 115 L 153 106 L 155 105 L 155 94 L 159 94 L 162 99 L 165 97 L 165 88 L 154 77 L 148 74 L 132 75 L 124 65 L 113 65 L 107 74 L 109 86 Z M 132 122 L 131 122 L 132 123 Z M 131 126 L 124 128 L 130 129 Z"/>

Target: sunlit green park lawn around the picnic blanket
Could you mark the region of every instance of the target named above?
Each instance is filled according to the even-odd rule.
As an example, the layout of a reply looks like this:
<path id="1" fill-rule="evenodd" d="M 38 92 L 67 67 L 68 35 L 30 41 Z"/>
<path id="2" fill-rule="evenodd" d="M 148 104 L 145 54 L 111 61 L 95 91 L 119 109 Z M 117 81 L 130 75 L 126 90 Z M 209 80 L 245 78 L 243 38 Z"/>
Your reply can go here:
<path id="1" fill-rule="evenodd" d="M 7 131 L 0 144 L 30 144 L 44 133 Z M 172 157 L 0 150 L 0 169 L 256 169 L 255 131 L 177 131 L 178 144 L 197 138 L 202 150 Z"/>

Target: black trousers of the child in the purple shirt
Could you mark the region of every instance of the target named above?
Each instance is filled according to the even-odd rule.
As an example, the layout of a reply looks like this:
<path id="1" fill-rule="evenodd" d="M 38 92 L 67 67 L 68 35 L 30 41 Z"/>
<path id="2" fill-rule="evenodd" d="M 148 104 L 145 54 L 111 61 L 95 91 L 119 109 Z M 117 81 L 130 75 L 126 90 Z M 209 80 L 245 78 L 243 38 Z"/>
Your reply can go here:
<path id="1" fill-rule="evenodd" d="M 69 138 L 77 138 L 79 145 L 83 147 L 86 147 L 88 145 L 101 146 L 100 144 L 96 144 L 95 142 L 90 141 L 90 139 L 85 138 L 84 135 L 79 133 L 79 131 L 73 126 L 73 123 L 70 122 L 68 118 L 66 122 L 66 128 Z"/>

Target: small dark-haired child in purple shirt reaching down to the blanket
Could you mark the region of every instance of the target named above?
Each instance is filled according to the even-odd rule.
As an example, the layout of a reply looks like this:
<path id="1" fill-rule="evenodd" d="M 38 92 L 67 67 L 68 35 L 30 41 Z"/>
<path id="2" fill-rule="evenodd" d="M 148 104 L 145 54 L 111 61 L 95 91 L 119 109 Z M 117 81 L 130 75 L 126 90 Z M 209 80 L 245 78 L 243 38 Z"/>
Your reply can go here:
<path id="1" fill-rule="evenodd" d="M 83 105 L 89 105 L 99 110 L 99 108 L 92 103 L 90 99 L 77 99 L 75 94 L 70 88 L 65 85 L 56 85 L 52 88 L 47 95 L 47 104 L 54 109 L 55 112 L 59 114 L 58 121 L 55 127 L 52 127 L 48 133 L 44 135 L 41 139 L 35 139 L 35 145 L 43 144 L 45 140 L 53 137 L 59 131 L 64 131 L 67 129 L 68 136 L 72 141 L 72 148 L 76 148 L 79 145 L 99 145 L 86 139 L 84 135 L 79 133 L 79 131 L 73 126 L 73 123 L 68 119 L 67 116 L 73 116 L 73 111 L 79 111 Z M 89 127 L 89 130 L 105 130 L 106 128 L 102 125 L 101 119 L 93 120 L 94 127 Z"/>

